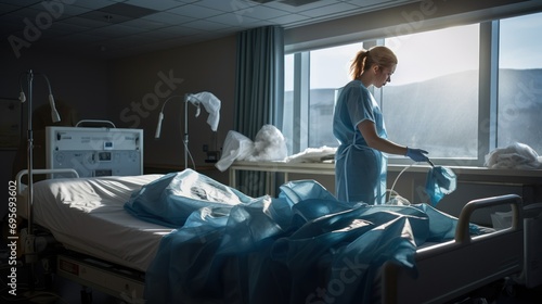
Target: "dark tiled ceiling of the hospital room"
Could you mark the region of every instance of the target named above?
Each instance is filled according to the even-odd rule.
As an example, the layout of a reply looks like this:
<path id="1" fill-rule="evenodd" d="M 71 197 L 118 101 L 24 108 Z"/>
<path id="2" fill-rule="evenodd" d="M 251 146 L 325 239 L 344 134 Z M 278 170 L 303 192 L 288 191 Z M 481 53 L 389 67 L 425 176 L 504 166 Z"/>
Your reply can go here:
<path id="1" fill-rule="evenodd" d="M 2 49 L 113 59 L 413 0 L 0 0 Z"/>

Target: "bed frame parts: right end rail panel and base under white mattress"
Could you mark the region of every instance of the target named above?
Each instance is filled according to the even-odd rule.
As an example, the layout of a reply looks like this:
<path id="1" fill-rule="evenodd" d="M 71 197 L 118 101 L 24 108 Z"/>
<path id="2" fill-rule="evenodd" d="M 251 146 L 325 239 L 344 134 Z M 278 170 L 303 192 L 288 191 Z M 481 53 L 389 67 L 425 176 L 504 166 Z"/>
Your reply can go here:
<path id="1" fill-rule="evenodd" d="M 472 214 L 479 208 L 509 205 L 512 227 L 469 236 Z M 31 206 L 30 206 L 31 207 Z M 521 198 L 515 194 L 468 202 L 457 221 L 455 239 L 421 248 L 415 254 L 418 276 L 387 262 L 380 269 L 378 302 L 446 303 L 524 269 L 524 217 Z M 475 271 L 473 271 L 475 269 Z M 56 274 L 85 287 L 144 303 L 144 274 L 72 251 L 56 255 Z"/>

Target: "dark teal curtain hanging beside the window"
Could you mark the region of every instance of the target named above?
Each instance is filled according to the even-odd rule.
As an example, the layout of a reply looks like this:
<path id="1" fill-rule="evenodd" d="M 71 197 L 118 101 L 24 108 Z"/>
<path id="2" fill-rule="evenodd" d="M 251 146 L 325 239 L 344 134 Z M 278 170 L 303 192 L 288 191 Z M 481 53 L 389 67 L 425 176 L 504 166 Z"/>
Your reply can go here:
<path id="1" fill-rule="evenodd" d="M 266 26 L 237 35 L 234 129 L 254 139 L 266 124 L 282 127 L 284 104 L 284 29 Z M 242 192 L 260 197 L 266 175 L 243 172 L 237 176 Z"/>

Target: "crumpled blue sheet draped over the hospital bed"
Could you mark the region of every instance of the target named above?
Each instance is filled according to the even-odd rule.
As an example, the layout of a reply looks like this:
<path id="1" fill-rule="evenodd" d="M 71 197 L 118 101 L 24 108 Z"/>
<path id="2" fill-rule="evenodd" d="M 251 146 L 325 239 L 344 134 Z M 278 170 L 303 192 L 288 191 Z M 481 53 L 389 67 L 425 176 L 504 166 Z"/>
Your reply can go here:
<path id="1" fill-rule="evenodd" d="M 369 303 L 385 262 L 416 276 L 416 246 L 452 239 L 456 226 L 426 204 L 340 202 L 313 180 L 249 198 L 191 169 L 146 185 L 125 207 L 176 227 L 146 271 L 149 304 Z"/>

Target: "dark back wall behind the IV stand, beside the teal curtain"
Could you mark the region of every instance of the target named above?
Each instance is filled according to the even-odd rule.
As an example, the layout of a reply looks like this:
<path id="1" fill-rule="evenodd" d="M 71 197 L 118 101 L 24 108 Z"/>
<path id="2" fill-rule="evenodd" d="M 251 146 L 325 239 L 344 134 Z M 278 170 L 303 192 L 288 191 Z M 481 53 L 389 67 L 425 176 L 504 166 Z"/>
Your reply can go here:
<path id="1" fill-rule="evenodd" d="M 195 117 L 195 107 L 189 104 L 189 151 L 198 170 L 228 182 L 227 173 L 205 162 L 203 145 L 219 150 L 233 128 L 235 50 L 235 36 L 230 36 L 109 62 L 109 119 L 117 127 L 144 130 L 145 173 L 183 169 L 183 96 L 209 91 L 221 101 L 218 131 L 206 123 L 204 109 Z M 172 96 L 180 97 L 167 102 L 160 138 L 155 139 L 158 114 Z M 190 160 L 189 167 L 193 167 Z"/>

